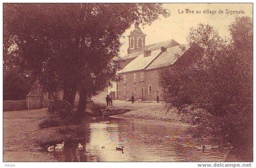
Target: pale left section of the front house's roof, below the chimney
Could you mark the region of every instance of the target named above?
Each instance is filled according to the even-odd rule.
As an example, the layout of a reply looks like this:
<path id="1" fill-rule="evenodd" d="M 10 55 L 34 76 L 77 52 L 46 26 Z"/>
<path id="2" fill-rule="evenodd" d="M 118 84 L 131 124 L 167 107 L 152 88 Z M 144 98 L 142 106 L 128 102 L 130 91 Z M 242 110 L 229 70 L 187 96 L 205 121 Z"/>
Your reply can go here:
<path id="1" fill-rule="evenodd" d="M 148 64 L 150 64 L 151 61 L 155 59 L 157 55 L 159 55 L 160 52 L 161 52 L 161 49 L 151 51 L 151 55 L 147 57 L 144 57 L 144 52 L 143 52 L 117 73 L 125 73 L 125 72 L 144 69 Z"/>

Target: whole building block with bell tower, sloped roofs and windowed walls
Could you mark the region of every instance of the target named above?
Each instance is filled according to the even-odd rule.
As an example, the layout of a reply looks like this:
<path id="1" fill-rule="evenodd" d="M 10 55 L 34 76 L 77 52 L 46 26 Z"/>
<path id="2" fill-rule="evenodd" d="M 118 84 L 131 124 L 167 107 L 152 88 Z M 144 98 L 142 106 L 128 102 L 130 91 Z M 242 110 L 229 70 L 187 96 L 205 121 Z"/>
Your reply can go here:
<path id="1" fill-rule="evenodd" d="M 122 78 L 117 83 L 120 100 L 131 98 L 132 92 L 135 99 L 146 100 L 156 100 L 156 92 L 159 92 L 159 99 L 163 100 L 159 70 L 175 70 L 184 61 L 192 63 L 201 55 L 199 46 L 191 47 L 186 44 L 182 51 L 181 45 L 173 39 L 145 46 L 145 36 L 137 23 L 128 36 L 128 54 L 120 61 L 121 70 L 118 71 Z M 181 56 L 177 58 L 176 54 Z"/>

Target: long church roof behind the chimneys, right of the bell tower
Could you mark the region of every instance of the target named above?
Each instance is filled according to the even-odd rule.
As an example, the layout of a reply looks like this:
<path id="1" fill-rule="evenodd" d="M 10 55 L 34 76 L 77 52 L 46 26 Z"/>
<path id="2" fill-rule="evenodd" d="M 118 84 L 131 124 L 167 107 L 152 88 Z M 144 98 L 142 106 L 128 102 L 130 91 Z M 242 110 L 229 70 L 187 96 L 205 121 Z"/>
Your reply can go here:
<path id="1" fill-rule="evenodd" d="M 155 43 L 155 44 L 150 44 L 150 45 L 136 49 L 137 50 L 136 52 L 124 55 L 124 58 L 122 60 L 137 57 L 138 55 L 141 55 L 142 53 L 144 54 L 145 50 L 154 51 L 154 50 L 161 49 L 161 47 L 170 48 L 170 47 L 178 46 L 178 45 L 180 45 L 180 44 L 173 39 L 167 40 L 164 42 Z"/>

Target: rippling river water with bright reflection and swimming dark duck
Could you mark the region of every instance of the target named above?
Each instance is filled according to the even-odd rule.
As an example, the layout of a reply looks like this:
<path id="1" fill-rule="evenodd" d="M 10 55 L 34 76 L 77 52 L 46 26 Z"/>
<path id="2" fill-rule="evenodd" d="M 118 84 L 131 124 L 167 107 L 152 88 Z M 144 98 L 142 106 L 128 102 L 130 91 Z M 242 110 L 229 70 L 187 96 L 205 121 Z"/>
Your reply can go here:
<path id="1" fill-rule="evenodd" d="M 49 155 L 58 161 L 224 161 L 227 153 L 202 152 L 186 127 L 176 124 L 98 118 L 80 129 L 88 135 L 83 149 L 70 144 Z M 115 150 L 121 146 L 123 152 Z"/>

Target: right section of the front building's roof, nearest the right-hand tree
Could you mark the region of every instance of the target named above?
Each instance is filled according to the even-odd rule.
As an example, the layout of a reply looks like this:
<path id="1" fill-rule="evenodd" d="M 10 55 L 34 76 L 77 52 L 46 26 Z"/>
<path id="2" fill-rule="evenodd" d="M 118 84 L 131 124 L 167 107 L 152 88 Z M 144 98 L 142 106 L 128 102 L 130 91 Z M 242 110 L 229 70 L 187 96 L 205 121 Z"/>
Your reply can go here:
<path id="1" fill-rule="evenodd" d="M 185 44 L 185 50 L 189 49 L 189 44 Z M 167 65 L 172 65 L 178 58 L 175 57 L 175 54 L 182 55 L 182 50 L 179 46 L 174 46 L 171 48 L 167 48 L 166 52 L 160 54 L 146 69 L 152 69 Z"/>

